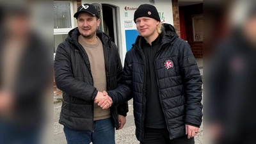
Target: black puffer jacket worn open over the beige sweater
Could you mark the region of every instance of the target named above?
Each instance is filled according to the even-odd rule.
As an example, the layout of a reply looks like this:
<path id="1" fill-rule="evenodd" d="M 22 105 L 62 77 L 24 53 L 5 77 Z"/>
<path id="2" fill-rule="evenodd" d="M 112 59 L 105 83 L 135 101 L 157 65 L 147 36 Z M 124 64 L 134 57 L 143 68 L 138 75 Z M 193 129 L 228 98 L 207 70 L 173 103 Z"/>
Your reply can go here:
<path id="1" fill-rule="evenodd" d="M 57 49 L 54 61 L 56 86 L 63 91 L 60 124 L 79 131 L 93 131 L 93 101 L 97 89 L 93 87 L 90 61 L 77 38 L 77 28 L 68 33 L 68 38 Z M 104 49 L 107 87 L 113 90 L 122 77 L 122 63 L 116 45 L 111 38 L 97 30 Z M 113 124 L 118 128 L 118 114 L 126 116 L 127 102 L 111 107 Z"/>

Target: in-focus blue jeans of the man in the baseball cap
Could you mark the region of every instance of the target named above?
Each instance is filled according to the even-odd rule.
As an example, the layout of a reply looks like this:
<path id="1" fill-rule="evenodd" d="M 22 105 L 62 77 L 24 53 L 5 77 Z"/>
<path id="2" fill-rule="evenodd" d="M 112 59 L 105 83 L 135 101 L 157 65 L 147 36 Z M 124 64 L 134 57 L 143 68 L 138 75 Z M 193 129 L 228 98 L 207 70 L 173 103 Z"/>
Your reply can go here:
<path id="1" fill-rule="evenodd" d="M 64 132 L 68 144 L 115 144 L 115 127 L 111 118 L 95 120 L 93 122 L 94 131 L 76 131 L 64 127 Z"/>

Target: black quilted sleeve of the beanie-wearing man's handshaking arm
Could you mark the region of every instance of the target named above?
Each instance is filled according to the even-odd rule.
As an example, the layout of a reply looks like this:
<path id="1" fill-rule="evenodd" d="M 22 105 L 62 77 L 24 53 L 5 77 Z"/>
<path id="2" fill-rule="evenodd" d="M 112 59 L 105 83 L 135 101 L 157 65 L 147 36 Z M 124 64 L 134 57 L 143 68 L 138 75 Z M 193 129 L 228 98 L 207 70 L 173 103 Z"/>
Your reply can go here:
<path id="1" fill-rule="evenodd" d="M 124 62 L 124 70 L 122 73 L 121 85 L 115 90 L 108 91 L 108 95 L 113 100 L 113 106 L 118 106 L 132 99 L 131 88 L 132 88 L 132 70 L 131 70 L 131 56 L 130 52 L 127 52 Z"/>

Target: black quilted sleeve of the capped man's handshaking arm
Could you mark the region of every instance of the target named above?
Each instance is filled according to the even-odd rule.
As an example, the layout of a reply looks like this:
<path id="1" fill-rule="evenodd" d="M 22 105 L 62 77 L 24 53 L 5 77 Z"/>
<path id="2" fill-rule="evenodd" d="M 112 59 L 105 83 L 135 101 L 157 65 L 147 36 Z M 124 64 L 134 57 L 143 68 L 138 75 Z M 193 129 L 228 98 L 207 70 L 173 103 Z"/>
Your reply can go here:
<path id="1" fill-rule="evenodd" d="M 68 95 L 86 101 L 93 101 L 97 95 L 97 89 L 88 83 L 74 78 L 70 54 L 68 54 L 65 48 L 65 45 L 61 43 L 56 51 L 54 61 L 56 86 Z"/>

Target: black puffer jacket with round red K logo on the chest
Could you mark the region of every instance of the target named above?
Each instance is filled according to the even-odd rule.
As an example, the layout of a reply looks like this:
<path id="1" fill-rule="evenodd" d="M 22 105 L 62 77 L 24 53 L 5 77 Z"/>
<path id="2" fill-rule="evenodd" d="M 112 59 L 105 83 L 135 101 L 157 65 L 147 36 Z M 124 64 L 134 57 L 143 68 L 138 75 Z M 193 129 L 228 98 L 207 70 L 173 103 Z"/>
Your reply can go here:
<path id="1" fill-rule="evenodd" d="M 170 139 L 174 139 L 185 135 L 185 124 L 201 125 L 202 78 L 189 44 L 178 37 L 172 25 L 163 26 L 163 40 L 154 60 L 156 86 Z M 147 68 L 140 45 L 141 36 L 138 36 L 125 57 L 124 84 L 108 94 L 113 99 L 113 105 L 133 98 L 136 137 L 143 141 Z M 173 67 L 166 68 L 166 61 L 173 62 Z"/>

